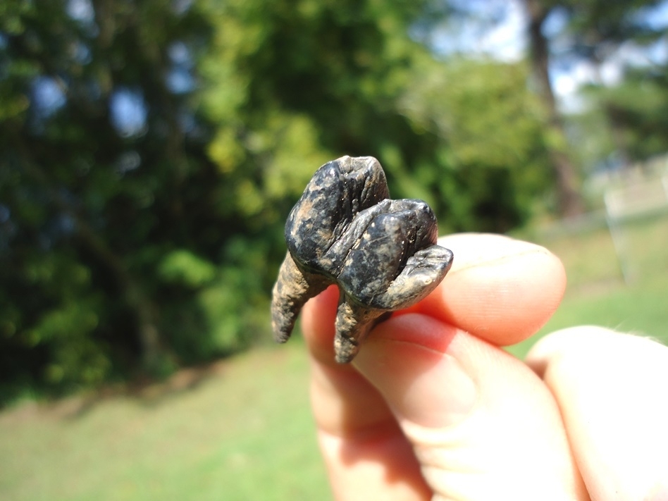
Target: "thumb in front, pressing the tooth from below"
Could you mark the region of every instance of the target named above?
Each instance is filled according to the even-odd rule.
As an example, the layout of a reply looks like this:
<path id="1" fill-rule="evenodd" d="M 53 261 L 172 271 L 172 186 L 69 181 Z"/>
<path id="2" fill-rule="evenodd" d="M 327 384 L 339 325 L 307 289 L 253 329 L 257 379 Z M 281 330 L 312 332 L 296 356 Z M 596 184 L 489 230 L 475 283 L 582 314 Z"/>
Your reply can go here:
<path id="1" fill-rule="evenodd" d="M 354 364 L 388 402 L 433 499 L 588 500 L 548 388 L 497 347 L 404 314 Z"/>

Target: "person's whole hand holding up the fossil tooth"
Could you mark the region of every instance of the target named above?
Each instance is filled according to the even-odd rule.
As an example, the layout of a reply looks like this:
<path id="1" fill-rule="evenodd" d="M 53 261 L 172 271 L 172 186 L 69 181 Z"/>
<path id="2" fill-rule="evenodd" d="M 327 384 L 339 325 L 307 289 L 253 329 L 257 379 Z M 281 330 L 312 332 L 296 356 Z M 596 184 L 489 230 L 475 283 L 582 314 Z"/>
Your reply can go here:
<path id="1" fill-rule="evenodd" d="M 303 311 L 318 440 L 337 500 L 667 500 L 668 349 L 581 327 L 526 363 L 566 278 L 547 250 L 452 235 L 443 283 L 334 361 L 338 291 Z"/>

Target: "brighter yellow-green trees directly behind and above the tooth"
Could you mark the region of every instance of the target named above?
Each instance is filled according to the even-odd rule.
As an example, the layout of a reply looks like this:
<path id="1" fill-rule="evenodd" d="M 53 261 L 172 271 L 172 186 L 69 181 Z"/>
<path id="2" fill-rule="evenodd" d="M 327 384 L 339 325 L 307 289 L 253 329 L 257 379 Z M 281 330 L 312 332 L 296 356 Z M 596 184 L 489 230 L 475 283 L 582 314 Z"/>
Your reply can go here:
<path id="1" fill-rule="evenodd" d="M 230 211 L 278 224 L 314 165 L 350 154 L 376 156 L 393 196 L 427 199 L 444 229 L 524 221 L 549 179 L 526 66 L 437 61 L 409 37 L 431 6 L 208 4 L 202 113 L 217 125 L 209 152 Z"/>

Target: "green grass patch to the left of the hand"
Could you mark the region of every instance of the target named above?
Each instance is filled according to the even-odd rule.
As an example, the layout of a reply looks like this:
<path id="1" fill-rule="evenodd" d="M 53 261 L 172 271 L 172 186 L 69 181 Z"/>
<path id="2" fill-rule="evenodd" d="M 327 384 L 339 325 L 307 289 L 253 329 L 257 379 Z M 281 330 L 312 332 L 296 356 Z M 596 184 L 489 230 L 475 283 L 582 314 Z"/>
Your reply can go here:
<path id="1" fill-rule="evenodd" d="M 307 373 L 293 340 L 135 395 L 6 410 L 0 499 L 330 499 Z"/>

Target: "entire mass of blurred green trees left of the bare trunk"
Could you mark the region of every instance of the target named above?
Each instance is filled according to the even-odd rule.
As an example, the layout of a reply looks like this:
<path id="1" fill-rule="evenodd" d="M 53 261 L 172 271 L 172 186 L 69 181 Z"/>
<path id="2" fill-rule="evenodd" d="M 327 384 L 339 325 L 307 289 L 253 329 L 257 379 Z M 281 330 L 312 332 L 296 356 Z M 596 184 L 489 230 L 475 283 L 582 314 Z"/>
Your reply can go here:
<path id="1" fill-rule="evenodd" d="M 268 331 L 283 222 L 315 169 L 373 155 L 442 230 L 549 190 L 523 63 L 437 61 L 438 2 L 0 6 L 0 391 L 163 373 Z"/>

